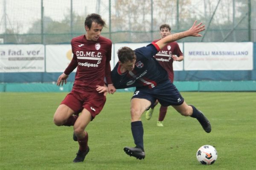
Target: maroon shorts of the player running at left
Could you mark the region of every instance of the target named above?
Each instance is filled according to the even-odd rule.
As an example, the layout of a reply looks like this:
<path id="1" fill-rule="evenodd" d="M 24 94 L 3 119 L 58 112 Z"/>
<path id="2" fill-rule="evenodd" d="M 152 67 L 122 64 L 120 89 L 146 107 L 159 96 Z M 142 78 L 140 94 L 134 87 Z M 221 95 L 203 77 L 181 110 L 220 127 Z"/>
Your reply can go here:
<path id="1" fill-rule="evenodd" d="M 91 113 L 93 118 L 102 110 L 105 105 L 106 97 L 103 93 L 87 92 L 80 93 L 71 91 L 61 104 L 67 105 L 75 114 L 80 113 L 84 108 Z"/>

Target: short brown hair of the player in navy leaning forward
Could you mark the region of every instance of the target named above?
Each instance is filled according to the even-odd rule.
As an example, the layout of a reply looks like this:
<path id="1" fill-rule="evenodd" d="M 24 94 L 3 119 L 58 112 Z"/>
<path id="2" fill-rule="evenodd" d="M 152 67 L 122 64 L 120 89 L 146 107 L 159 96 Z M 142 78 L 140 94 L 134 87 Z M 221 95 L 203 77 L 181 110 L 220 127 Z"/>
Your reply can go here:
<path id="1" fill-rule="evenodd" d="M 119 50 L 117 51 L 117 56 L 121 63 L 133 61 L 134 59 L 136 59 L 134 51 L 129 47 L 119 48 Z"/>

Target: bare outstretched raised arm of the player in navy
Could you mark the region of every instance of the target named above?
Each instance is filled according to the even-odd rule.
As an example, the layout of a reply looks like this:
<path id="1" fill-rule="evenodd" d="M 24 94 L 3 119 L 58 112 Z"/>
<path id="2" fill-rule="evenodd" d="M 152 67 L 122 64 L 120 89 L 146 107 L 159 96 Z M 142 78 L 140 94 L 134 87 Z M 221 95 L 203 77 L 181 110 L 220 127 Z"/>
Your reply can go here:
<path id="1" fill-rule="evenodd" d="M 196 22 L 197 21 L 194 22 L 193 26 L 189 30 L 166 36 L 161 40 L 157 41 L 156 44 L 159 46 L 160 49 L 162 49 L 164 46 L 166 46 L 167 43 L 177 41 L 185 37 L 201 37 L 202 35 L 198 33 L 205 30 L 205 25 L 201 26 L 202 23 L 196 25 Z"/>

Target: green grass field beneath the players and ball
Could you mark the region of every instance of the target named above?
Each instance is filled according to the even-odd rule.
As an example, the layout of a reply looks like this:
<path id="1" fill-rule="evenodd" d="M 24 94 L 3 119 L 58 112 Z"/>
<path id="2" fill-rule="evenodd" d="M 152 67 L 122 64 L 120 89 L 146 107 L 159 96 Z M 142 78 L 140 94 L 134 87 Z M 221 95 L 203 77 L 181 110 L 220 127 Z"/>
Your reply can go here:
<path id="1" fill-rule="evenodd" d="M 151 120 L 142 116 L 145 159 L 126 155 L 134 146 L 130 126 L 132 93 L 108 95 L 105 108 L 87 127 L 90 152 L 82 163 L 72 127 L 57 127 L 53 114 L 65 93 L 0 93 L 1 170 L 255 170 L 256 92 L 183 92 L 188 104 L 212 124 L 205 133 L 196 119 L 169 107 L 157 127 L 159 105 Z M 196 152 L 204 144 L 218 151 L 217 161 L 201 165 Z"/>

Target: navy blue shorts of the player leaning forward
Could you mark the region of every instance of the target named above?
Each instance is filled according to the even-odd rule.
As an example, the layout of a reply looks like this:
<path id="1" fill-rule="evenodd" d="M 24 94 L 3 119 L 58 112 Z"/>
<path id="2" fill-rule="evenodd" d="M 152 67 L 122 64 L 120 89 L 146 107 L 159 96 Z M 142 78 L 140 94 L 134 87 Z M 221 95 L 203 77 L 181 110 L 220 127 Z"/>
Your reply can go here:
<path id="1" fill-rule="evenodd" d="M 151 102 L 151 106 L 156 100 L 162 106 L 177 106 L 184 102 L 180 92 L 170 81 L 162 82 L 154 88 L 137 87 L 132 96 L 133 98 L 147 99 Z"/>

